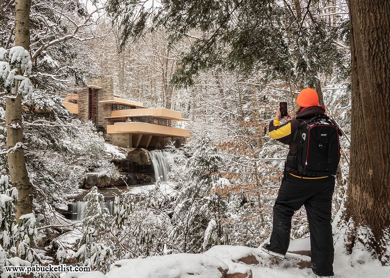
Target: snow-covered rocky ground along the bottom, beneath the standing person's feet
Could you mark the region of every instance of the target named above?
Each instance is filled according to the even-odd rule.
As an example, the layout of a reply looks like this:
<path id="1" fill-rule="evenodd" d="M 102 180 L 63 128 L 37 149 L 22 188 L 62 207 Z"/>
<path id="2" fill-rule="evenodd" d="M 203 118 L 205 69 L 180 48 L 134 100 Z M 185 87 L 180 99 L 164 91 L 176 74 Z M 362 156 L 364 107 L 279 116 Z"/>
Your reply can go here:
<path id="1" fill-rule="evenodd" d="M 362 263 L 335 246 L 334 273 L 339 278 L 390 277 L 390 266 L 382 266 L 378 260 L 366 254 Z M 340 246 L 341 247 L 341 246 Z M 292 241 L 289 251 L 309 250 L 309 238 Z M 362 251 L 363 252 L 363 251 Z M 204 254 L 172 254 L 145 259 L 122 259 L 111 265 L 107 274 L 63 274 L 62 278 L 218 278 L 219 269 L 227 270 L 231 277 L 253 278 L 314 278 L 307 266 L 310 257 L 288 254 L 287 259 L 274 259 L 259 248 L 219 245 Z M 300 263 L 302 262 L 302 263 Z M 354 262 L 354 263 L 352 263 Z M 305 264 L 306 263 L 306 264 Z M 302 267 L 305 266 L 306 267 Z M 353 266 L 352 266 L 353 265 Z M 300 269 L 301 267 L 301 269 Z M 243 276 L 233 276 L 241 273 Z"/>

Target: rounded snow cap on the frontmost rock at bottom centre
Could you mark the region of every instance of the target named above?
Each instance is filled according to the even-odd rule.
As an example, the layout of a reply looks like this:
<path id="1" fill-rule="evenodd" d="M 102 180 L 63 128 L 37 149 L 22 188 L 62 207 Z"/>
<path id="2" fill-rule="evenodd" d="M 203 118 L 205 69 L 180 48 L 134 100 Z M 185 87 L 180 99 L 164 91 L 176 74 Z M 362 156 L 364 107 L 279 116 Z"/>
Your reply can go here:
<path id="1" fill-rule="evenodd" d="M 223 278 L 228 265 L 204 254 L 172 254 L 113 263 L 108 278 Z"/>

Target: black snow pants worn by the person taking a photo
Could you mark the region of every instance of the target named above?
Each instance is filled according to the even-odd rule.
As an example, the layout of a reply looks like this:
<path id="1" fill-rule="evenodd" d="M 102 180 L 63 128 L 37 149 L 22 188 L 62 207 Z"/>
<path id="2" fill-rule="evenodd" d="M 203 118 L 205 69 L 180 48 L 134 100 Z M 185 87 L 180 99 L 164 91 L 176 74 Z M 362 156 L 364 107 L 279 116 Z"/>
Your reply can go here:
<path id="1" fill-rule="evenodd" d="M 273 206 L 273 232 L 270 250 L 286 254 L 290 244 L 294 211 L 305 205 L 309 220 L 312 271 L 318 276 L 333 276 L 333 237 L 331 200 L 334 177 L 303 179 L 285 173 Z"/>

